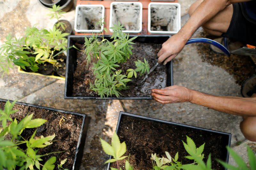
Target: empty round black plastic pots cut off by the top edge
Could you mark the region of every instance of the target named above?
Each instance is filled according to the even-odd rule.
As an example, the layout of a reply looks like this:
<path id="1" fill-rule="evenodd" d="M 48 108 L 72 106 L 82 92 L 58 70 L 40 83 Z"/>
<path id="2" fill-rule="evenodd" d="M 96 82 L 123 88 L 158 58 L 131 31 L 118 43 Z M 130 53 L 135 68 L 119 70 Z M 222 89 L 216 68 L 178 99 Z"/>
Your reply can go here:
<path id="1" fill-rule="evenodd" d="M 68 12 L 73 6 L 73 0 L 38 0 L 46 8 L 52 8 L 52 5 L 60 5 L 62 11 Z"/>

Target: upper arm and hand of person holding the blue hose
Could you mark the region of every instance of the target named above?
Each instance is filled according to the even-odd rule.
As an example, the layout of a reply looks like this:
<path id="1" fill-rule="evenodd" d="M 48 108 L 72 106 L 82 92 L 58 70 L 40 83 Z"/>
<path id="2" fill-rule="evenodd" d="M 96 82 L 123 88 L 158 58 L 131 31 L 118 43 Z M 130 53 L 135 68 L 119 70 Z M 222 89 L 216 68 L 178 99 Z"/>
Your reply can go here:
<path id="1" fill-rule="evenodd" d="M 204 0 L 192 13 L 188 22 L 180 29 L 176 35 L 172 35 L 162 45 L 162 49 L 158 52 L 158 63 L 164 65 L 176 57 L 184 48 L 188 39 L 194 32 L 205 22 L 214 17 L 218 12 L 225 9 L 228 5 L 237 2 L 249 0 Z"/>

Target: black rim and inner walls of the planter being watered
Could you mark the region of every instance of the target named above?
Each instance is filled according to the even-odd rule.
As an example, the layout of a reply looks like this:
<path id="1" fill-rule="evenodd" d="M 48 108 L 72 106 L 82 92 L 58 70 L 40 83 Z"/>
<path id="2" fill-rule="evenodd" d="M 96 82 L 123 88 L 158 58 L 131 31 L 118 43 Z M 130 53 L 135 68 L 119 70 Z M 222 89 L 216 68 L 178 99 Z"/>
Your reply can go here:
<path id="1" fill-rule="evenodd" d="M 86 37 L 91 37 L 92 35 L 87 35 Z M 129 35 L 130 37 L 134 37 L 136 35 Z M 99 35 L 99 37 L 101 37 Z M 104 37 L 110 38 L 111 35 L 104 35 Z M 140 35 L 137 39 L 146 39 L 146 38 L 169 38 L 169 35 Z M 82 40 L 84 42 L 84 35 L 68 35 L 68 47 L 75 44 L 75 41 Z M 72 60 L 72 50 L 69 49 L 67 51 L 67 60 L 66 60 L 66 79 L 65 79 L 65 90 L 64 90 L 64 99 L 153 99 L 151 96 L 144 96 L 144 97 L 103 97 L 100 96 L 92 97 L 92 96 L 73 96 L 72 89 L 73 89 L 73 72 L 75 63 Z M 167 73 L 167 86 L 173 86 L 173 62 L 172 60 L 166 64 L 166 73 Z"/>

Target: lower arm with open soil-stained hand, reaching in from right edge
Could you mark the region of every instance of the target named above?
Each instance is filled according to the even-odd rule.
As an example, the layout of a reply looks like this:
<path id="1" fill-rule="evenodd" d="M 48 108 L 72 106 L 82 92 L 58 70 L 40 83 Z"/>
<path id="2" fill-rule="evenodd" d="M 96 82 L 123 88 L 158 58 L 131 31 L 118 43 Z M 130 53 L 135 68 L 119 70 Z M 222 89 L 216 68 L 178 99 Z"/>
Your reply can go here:
<path id="1" fill-rule="evenodd" d="M 256 116 L 256 97 L 220 97 L 180 86 L 152 89 L 152 96 L 162 104 L 190 102 L 229 114 Z"/>

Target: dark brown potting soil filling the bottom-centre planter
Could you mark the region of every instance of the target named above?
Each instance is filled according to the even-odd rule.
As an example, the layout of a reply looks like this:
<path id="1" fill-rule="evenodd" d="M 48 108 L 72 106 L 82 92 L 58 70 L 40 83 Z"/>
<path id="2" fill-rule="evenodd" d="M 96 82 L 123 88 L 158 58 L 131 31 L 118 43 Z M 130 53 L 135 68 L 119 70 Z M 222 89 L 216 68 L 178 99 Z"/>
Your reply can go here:
<path id="1" fill-rule="evenodd" d="M 125 156 L 129 156 L 129 163 L 135 170 L 152 169 L 151 153 L 156 153 L 159 157 L 165 157 L 165 151 L 168 151 L 172 158 L 179 152 L 179 159 L 182 164 L 193 163 L 193 161 L 184 158 L 188 153 L 184 149 L 182 140 L 186 142 L 186 135 L 194 140 L 196 147 L 204 145 L 204 162 L 206 162 L 211 153 L 212 168 L 224 169 L 216 159 L 226 159 L 221 155 L 224 137 L 222 135 L 205 132 L 197 129 L 188 129 L 177 125 L 168 125 L 159 122 L 137 119 L 123 115 L 118 136 L 120 142 L 126 143 L 127 151 Z M 120 167 L 125 166 L 124 161 L 119 162 Z M 110 167 L 116 167 L 112 163 Z"/>

